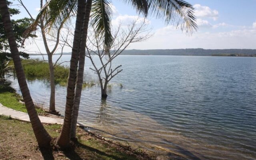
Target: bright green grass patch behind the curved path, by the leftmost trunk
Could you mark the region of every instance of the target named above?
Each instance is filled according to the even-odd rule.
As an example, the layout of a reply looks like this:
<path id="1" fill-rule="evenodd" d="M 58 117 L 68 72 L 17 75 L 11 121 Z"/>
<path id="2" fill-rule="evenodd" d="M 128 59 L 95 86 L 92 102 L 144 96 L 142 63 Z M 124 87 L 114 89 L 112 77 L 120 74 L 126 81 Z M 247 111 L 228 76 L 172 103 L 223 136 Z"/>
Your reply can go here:
<path id="1" fill-rule="evenodd" d="M 22 103 L 22 97 L 10 87 L 10 83 L 0 82 L 0 103 L 8 108 L 26 112 L 25 104 Z M 36 108 L 38 113 L 44 113 L 40 108 Z"/>

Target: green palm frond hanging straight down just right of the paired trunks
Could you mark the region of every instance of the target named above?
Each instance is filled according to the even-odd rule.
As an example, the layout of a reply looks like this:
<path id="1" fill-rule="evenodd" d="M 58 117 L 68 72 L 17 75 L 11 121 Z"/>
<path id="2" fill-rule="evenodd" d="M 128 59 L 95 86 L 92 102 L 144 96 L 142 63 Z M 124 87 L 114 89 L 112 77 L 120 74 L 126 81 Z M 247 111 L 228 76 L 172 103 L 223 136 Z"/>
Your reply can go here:
<path id="1" fill-rule="evenodd" d="M 106 48 L 112 44 L 113 37 L 111 34 L 111 9 L 110 0 L 93 0 L 91 10 L 91 24 L 96 26 L 97 36 L 104 38 Z"/>

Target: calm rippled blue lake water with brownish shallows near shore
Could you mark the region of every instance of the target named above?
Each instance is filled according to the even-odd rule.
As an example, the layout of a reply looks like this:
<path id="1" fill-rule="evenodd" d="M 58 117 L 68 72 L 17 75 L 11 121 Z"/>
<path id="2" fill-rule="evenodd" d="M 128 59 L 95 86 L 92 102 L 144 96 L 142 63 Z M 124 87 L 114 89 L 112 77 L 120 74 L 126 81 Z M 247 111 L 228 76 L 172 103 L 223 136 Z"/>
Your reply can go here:
<path id="1" fill-rule="evenodd" d="M 87 79 L 94 79 L 86 62 Z M 106 101 L 98 85 L 82 92 L 79 120 L 92 130 L 188 159 L 256 159 L 256 58 L 119 56 L 114 64 L 123 71 Z M 47 106 L 49 83 L 28 85 L 34 101 Z M 65 97 L 66 88 L 56 86 L 62 114 Z"/>

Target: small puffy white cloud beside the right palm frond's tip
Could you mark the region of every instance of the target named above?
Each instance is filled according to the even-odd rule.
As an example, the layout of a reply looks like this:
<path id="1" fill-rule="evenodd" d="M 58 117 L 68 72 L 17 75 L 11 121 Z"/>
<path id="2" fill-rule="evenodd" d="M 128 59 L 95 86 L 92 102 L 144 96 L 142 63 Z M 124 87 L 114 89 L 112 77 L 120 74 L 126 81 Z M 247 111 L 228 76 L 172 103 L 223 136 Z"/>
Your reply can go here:
<path id="1" fill-rule="evenodd" d="M 212 10 L 208 6 L 201 6 L 200 4 L 195 4 L 195 15 L 199 18 L 208 17 L 213 20 L 217 20 L 219 16 L 219 12 L 217 10 Z"/>

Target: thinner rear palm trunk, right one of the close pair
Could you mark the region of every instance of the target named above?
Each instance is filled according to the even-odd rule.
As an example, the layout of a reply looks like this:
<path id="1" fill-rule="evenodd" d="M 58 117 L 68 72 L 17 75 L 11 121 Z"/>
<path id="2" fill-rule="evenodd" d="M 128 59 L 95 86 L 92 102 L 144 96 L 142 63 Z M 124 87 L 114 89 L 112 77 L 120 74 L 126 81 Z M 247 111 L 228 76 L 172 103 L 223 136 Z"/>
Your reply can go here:
<path id="1" fill-rule="evenodd" d="M 81 42 L 81 48 L 79 51 L 79 66 L 78 66 L 78 76 L 76 81 L 75 102 L 73 107 L 74 110 L 72 112 L 72 129 L 71 129 L 72 139 L 76 138 L 76 123 L 77 123 L 80 98 L 82 93 L 82 85 L 84 80 L 85 47 L 86 47 L 86 38 L 87 38 L 91 8 L 92 8 L 92 0 L 87 0 L 86 8 L 85 8 L 85 16 L 84 16 L 83 37 Z"/>

